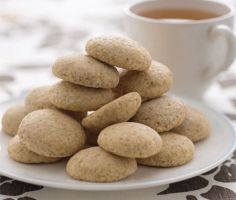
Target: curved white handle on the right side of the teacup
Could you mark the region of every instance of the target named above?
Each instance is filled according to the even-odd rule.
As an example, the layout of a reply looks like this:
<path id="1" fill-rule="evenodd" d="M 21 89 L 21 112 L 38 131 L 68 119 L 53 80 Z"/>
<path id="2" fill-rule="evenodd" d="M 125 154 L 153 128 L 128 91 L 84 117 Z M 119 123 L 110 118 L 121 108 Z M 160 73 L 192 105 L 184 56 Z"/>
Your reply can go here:
<path id="1" fill-rule="evenodd" d="M 233 31 L 226 25 L 217 25 L 210 30 L 210 38 L 224 37 L 227 44 L 227 55 L 223 64 L 215 68 L 208 68 L 206 78 L 218 75 L 220 72 L 229 68 L 236 56 L 236 37 Z"/>

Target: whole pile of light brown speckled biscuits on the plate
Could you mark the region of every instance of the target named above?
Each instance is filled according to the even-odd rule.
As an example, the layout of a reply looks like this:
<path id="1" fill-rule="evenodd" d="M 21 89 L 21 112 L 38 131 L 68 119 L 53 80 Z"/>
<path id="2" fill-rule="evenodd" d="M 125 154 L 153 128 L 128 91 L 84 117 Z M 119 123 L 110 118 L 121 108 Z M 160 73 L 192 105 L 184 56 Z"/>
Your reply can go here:
<path id="1" fill-rule="evenodd" d="M 58 58 L 52 72 L 61 80 L 30 91 L 24 105 L 5 112 L 3 131 L 14 136 L 9 156 L 28 164 L 69 157 L 68 175 L 92 182 L 121 180 L 137 165 L 191 161 L 210 124 L 165 94 L 172 85 L 168 67 L 123 37 L 93 38 L 86 52 Z"/>

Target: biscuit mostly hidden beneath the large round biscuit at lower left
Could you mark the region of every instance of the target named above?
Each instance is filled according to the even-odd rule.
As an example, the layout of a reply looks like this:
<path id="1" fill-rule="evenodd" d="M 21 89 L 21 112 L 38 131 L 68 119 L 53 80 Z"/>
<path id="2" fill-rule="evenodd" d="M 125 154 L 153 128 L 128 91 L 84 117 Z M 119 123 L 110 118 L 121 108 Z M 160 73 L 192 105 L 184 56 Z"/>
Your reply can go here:
<path id="1" fill-rule="evenodd" d="M 20 142 L 18 135 L 16 135 L 9 141 L 7 150 L 10 158 L 21 163 L 50 163 L 56 162 L 61 159 L 56 157 L 41 156 L 34 153 L 33 151 L 30 151 Z"/>

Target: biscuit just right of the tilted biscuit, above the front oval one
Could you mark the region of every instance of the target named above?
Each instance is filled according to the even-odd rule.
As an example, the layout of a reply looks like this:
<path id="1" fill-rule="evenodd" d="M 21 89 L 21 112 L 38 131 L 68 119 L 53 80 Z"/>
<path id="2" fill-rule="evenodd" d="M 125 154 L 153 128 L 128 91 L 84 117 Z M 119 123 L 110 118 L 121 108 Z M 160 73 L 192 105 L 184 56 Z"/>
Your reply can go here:
<path id="1" fill-rule="evenodd" d="M 179 99 L 165 95 L 144 102 L 131 121 L 150 126 L 160 133 L 179 126 L 185 117 L 185 105 Z"/>

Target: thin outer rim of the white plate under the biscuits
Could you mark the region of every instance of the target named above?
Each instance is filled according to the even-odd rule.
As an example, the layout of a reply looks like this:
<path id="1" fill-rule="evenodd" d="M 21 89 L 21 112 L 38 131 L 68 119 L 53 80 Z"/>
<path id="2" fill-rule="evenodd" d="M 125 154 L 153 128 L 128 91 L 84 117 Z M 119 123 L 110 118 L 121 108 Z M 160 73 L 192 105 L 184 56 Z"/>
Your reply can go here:
<path id="1" fill-rule="evenodd" d="M 22 100 L 22 98 L 23 98 L 23 96 L 11 98 L 9 100 L 6 100 L 6 101 L 3 101 L 2 103 L 0 103 L 0 106 L 3 106 L 6 103 L 15 102 L 17 100 Z M 201 107 L 204 107 L 204 108 L 210 110 L 212 113 L 217 114 L 218 117 L 221 117 L 224 120 L 224 122 L 228 125 L 228 127 L 232 130 L 232 133 L 233 133 L 234 141 L 232 143 L 232 146 L 229 148 L 228 152 L 222 158 L 220 158 L 219 160 L 217 160 L 216 162 L 214 162 L 213 164 L 211 164 L 205 168 L 199 169 L 194 172 L 189 172 L 184 175 L 178 175 L 175 178 L 165 179 L 163 181 L 157 180 L 157 181 L 149 181 L 147 183 L 132 183 L 130 185 L 109 185 L 109 183 L 98 183 L 99 185 L 93 186 L 93 188 L 88 185 L 76 185 L 76 184 L 72 185 L 72 184 L 66 184 L 66 183 L 63 184 L 63 183 L 57 183 L 57 182 L 48 182 L 48 181 L 44 181 L 44 180 L 40 180 L 40 179 L 28 179 L 28 178 L 24 178 L 23 176 L 20 176 L 17 174 L 9 173 L 1 168 L 0 168 L 0 174 L 7 176 L 9 178 L 16 179 L 16 180 L 23 181 L 23 182 L 30 183 L 30 184 L 41 185 L 41 186 L 46 186 L 46 187 L 51 187 L 51 188 L 58 188 L 58 189 L 78 190 L 78 191 L 122 191 L 122 190 L 145 189 L 145 188 L 151 188 L 151 187 L 155 187 L 155 186 L 163 186 L 163 185 L 183 181 L 183 180 L 195 177 L 197 175 L 203 174 L 203 173 L 219 166 L 233 153 L 233 151 L 236 148 L 236 131 L 235 131 L 235 128 L 234 128 L 232 122 L 230 121 L 230 119 L 227 116 L 214 110 L 213 108 L 208 106 L 205 102 L 191 99 L 188 97 L 182 97 L 182 98 L 183 98 L 183 100 L 194 102 L 194 104 L 200 105 Z M 101 184 L 104 184 L 104 185 L 101 185 Z"/>

